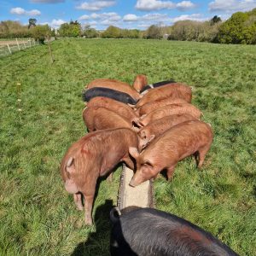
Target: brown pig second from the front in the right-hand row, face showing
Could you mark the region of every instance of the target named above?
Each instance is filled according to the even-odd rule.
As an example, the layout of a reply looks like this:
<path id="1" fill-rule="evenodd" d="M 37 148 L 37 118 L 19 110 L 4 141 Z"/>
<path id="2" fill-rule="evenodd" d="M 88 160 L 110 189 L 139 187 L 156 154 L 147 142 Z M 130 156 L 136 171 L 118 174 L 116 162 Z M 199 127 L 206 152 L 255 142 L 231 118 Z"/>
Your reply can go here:
<path id="1" fill-rule="evenodd" d="M 194 119 L 195 118 L 192 115 L 183 113 L 172 114 L 162 119 L 154 120 L 154 122 L 144 126 L 138 132 L 138 136 L 140 137 L 138 147 L 139 150 L 145 148 L 148 145 L 148 143 L 150 143 L 153 139 L 160 137 L 160 135 L 162 135 L 165 131 L 172 128 L 172 126 Z"/>

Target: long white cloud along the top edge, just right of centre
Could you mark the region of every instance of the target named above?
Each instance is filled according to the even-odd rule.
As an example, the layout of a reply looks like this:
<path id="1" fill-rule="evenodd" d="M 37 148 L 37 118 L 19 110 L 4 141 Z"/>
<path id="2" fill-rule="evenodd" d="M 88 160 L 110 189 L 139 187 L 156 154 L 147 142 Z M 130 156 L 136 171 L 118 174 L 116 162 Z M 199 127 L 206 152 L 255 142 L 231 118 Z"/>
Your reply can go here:
<path id="1" fill-rule="evenodd" d="M 180 3 L 172 3 L 172 1 L 160 0 L 137 0 L 136 9 L 142 11 L 151 11 L 158 9 L 179 9 L 181 11 L 195 8 L 195 3 L 191 1 L 182 1 Z"/>

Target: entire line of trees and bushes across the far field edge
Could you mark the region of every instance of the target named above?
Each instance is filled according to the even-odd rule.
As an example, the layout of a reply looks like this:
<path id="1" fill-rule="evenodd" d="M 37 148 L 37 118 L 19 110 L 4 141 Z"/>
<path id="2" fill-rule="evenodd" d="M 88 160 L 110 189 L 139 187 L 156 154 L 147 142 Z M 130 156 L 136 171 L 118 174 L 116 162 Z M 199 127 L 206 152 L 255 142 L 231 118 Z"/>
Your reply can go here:
<path id="1" fill-rule="evenodd" d="M 237 12 L 224 22 L 214 16 L 208 21 L 183 20 L 172 26 L 149 26 L 147 30 L 121 29 L 108 26 L 97 31 L 90 26 L 81 26 L 78 20 L 64 23 L 55 32 L 48 25 L 37 25 L 37 20 L 29 19 L 27 26 L 18 21 L 2 21 L 0 38 L 35 38 L 44 42 L 45 37 L 84 37 L 84 38 L 166 38 L 169 40 L 198 41 L 220 44 L 256 44 L 256 9 Z"/>

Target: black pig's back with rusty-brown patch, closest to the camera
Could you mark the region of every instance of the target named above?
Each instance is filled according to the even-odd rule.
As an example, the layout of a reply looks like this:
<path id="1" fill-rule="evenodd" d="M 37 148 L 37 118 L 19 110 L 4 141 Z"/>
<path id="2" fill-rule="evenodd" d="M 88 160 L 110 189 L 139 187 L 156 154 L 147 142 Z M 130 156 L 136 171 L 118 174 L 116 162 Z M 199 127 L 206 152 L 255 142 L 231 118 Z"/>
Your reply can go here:
<path id="1" fill-rule="evenodd" d="M 131 254 L 126 255 L 140 256 L 237 255 L 211 233 L 167 212 L 140 208 L 119 218 L 111 234 L 112 241 L 117 241 L 119 245 L 117 255 L 124 255 L 122 250 L 126 253 L 130 250 Z"/>

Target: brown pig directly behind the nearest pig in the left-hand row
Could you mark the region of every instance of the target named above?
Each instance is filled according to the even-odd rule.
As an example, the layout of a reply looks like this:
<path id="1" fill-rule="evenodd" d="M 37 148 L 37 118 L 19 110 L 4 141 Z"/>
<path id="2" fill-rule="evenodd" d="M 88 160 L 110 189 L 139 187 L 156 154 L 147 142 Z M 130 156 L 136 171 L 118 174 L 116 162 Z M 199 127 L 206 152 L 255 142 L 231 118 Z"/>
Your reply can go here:
<path id="1" fill-rule="evenodd" d="M 83 119 L 89 132 L 115 128 L 132 128 L 131 122 L 108 108 L 84 108 Z"/>

